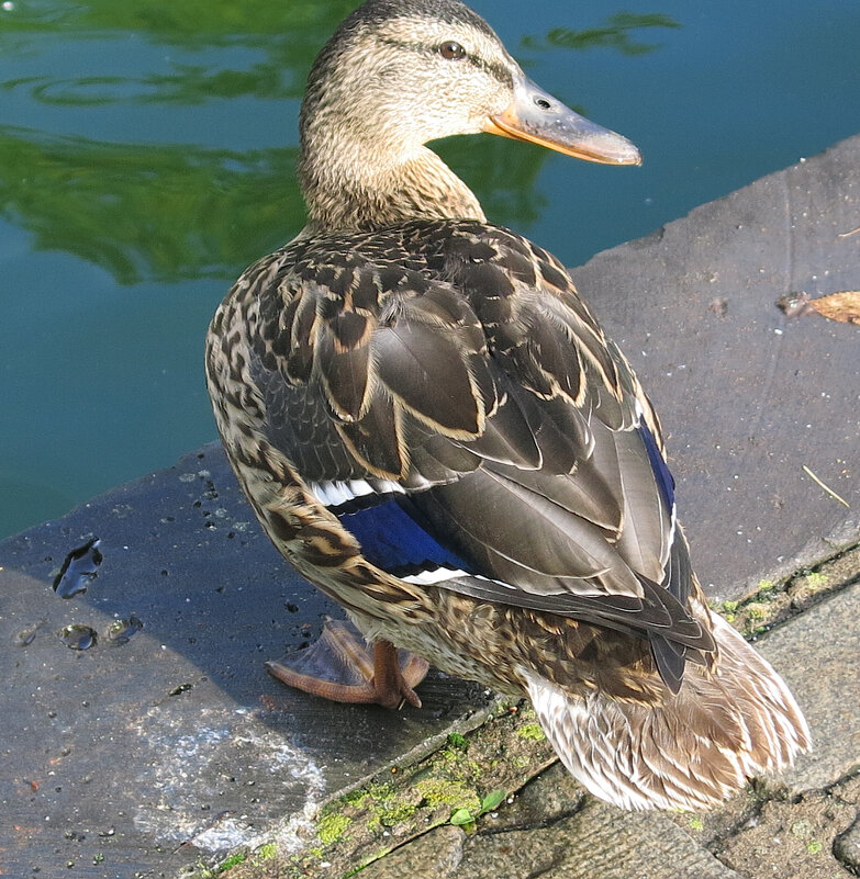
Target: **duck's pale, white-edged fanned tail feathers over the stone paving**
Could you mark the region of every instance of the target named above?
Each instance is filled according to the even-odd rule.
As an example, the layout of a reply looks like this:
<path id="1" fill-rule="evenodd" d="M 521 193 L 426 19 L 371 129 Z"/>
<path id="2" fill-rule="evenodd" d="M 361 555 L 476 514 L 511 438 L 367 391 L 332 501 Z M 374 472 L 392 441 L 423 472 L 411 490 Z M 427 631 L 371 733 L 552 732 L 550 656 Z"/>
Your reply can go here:
<path id="1" fill-rule="evenodd" d="M 712 616 L 718 668 L 688 663 L 678 695 L 657 707 L 600 694 L 576 698 L 529 676 L 544 731 L 595 797 L 624 809 L 708 809 L 809 747 L 808 726 L 782 678 Z"/>

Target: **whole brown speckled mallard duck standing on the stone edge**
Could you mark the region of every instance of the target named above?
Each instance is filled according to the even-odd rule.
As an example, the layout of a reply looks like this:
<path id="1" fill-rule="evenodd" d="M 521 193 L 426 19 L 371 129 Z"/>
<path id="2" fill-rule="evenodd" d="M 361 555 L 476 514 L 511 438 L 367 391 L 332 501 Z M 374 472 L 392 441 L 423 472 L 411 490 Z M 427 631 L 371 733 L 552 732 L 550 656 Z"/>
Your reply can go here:
<path id="1" fill-rule="evenodd" d="M 420 705 L 429 661 L 525 696 L 568 769 L 628 809 L 708 807 L 789 765 L 805 721 L 707 608 L 636 375 L 559 260 L 488 223 L 425 145 L 637 149 L 457 0 L 359 7 L 300 125 L 308 224 L 217 309 L 209 391 L 266 532 L 360 635 L 331 626 L 272 674 L 395 707 Z"/>

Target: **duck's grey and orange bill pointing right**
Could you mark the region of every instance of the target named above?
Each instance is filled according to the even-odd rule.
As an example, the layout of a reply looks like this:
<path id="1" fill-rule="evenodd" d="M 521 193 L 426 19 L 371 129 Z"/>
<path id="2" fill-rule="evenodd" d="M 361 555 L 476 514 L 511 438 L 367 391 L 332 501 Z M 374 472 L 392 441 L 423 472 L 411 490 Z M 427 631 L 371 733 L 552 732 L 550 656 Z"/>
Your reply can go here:
<path id="1" fill-rule="evenodd" d="M 514 100 L 490 116 L 483 129 L 515 140 L 530 140 L 568 156 L 604 165 L 641 165 L 639 150 L 626 138 L 595 125 L 522 76 Z"/>

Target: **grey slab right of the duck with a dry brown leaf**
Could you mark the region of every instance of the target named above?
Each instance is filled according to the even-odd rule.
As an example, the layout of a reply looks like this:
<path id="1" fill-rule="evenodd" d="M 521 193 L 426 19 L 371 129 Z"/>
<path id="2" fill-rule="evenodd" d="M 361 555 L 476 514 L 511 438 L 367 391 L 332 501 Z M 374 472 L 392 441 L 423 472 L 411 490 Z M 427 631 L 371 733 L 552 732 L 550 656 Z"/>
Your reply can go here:
<path id="1" fill-rule="evenodd" d="M 858 227 L 852 137 L 574 271 L 657 405 L 721 600 L 860 533 L 860 327 L 777 306 L 860 290 Z"/>

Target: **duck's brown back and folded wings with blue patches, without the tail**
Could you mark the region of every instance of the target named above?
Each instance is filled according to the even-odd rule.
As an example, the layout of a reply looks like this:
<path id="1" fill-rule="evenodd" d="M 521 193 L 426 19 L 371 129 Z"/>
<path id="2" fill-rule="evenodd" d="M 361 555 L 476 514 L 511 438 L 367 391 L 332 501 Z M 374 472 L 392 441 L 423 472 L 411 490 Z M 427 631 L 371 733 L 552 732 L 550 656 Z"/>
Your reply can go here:
<path id="1" fill-rule="evenodd" d="M 277 452 L 333 514 L 328 564 L 357 544 L 406 583 L 646 639 L 672 689 L 706 662 L 650 405 L 525 238 L 416 221 L 297 239 L 225 300 L 208 368 L 239 476 Z"/>

